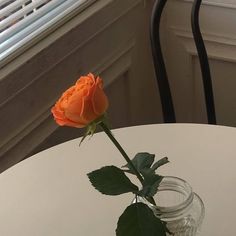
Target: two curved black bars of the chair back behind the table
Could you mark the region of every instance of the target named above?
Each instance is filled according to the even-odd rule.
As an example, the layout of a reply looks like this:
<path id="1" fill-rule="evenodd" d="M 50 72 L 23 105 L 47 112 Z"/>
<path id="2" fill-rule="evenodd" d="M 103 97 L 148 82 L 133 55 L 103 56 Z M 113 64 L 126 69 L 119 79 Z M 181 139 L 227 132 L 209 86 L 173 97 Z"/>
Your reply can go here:
<path id="1" fill-rule="evenodd" d="M 167 0 L 156 0 L 154 3 L 150 22 L 150 40 L 151 40 L 154 69 L 160 92 L 164 122 L 175 123 L 176 117 L 173 106 L 173 100 L 171 96 L 169 81 L 166 73 L 166 67 L 160 43 L 160 21 L 166 2 Z M 208 123 L 216 124 L 215 104 L 214 104 L 210 67 L 206 48 L 199 27 L 199 11 L 201 3 L 202 0 L 194 0 L 193 2 L 192 14 L 191 14 L 192 32 L 201 66 Z"/>

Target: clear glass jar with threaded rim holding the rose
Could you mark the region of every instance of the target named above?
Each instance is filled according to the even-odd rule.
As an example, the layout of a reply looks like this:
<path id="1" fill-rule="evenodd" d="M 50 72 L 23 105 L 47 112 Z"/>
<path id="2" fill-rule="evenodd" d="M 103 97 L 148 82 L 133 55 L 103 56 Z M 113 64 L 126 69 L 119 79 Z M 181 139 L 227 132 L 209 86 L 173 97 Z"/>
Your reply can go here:
<path id="1" fill-rule="evenodd" d="M 202 224 L 205 208 L 201 198 L 192 191 L 183 179 L 166 176 L 154 197 L 157 206 L 146 199 L 137 197 L 134 202 L 147 204 L 154 214 L 167 223 L 174 236 L 195 236 Z"/>

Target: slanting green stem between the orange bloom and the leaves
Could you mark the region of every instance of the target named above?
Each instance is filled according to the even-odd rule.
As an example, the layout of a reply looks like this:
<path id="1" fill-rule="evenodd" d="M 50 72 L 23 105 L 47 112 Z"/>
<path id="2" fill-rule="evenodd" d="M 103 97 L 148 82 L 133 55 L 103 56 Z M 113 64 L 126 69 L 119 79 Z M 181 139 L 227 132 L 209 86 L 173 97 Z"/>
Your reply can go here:
<path id="1" fill-rule="evenodd" d="M 140 175 L 138 170 L 135 168 L 134 164 L 132 163 L 132 161 L 130 160 L 130 158 L 128 157 L 128 155 L 124 151 L 124 149 L 121 147 L 121 145 L 115 139 L 115 137 L 112 135 L 110 129 L 103 122 L 100 123 L 100 126 L 102 127 L 104 132 L 107 134 L 107 136 L 110 138 L 110 140 L 114 143 L 114 145 L 117 147 L 117 149 L 120 151 L 121 155 L 125 158 L 125 160 L 127 161 L 128 165 L 133 170 L 133 172 L 135 173 L 135 175 L 137 176 L 137 178 L 139 179 L 141 184 L 143 184 L 143 177 Z"/>

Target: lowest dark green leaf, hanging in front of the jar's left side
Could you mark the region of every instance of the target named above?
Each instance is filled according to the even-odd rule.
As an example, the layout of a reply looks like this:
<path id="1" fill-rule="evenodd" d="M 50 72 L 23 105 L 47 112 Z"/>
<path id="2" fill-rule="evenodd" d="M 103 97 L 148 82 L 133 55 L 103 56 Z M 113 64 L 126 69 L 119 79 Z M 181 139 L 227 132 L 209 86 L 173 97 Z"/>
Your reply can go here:
<path id="1" fill-rule="evenodd" d="M 134 203 L 120 216 L 116 236 L 166 236 L 164 223 L 144 203 Z"/>

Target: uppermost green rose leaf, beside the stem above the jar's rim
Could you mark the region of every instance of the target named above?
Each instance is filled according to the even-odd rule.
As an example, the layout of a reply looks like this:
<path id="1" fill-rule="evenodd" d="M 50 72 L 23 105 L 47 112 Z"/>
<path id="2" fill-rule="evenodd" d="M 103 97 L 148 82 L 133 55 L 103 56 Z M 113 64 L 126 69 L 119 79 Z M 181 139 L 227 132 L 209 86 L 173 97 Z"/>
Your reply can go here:
<path id="1" fill-rule="evenodd" d="M 152 163 L 154 162 L 154 158 L 155 158 L 154 154 L 150 154 L 147 152 L 140 152 L 140 153 L 136 154 L 135 157 L 131 161 L 134 164 L 134 166 L 136 167 L 136 169 L 139 172 L 141 172 L 141 170 L 151 167 Z M 134 174 L 134 172 L 131 169 L 129 164 L 127 164 L 123 167 L 128 167 L 129 170 L 128 171 L 126 170 L 126 172 Z"/>

